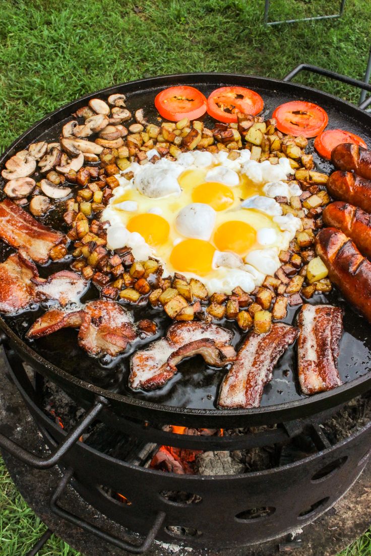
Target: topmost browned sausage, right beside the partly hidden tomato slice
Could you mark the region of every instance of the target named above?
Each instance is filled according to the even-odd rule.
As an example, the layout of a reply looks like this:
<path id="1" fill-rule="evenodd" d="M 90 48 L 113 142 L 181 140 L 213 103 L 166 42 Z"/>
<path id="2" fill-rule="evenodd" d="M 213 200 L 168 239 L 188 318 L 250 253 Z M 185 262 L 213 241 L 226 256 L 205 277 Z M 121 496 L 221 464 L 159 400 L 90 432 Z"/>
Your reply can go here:
<path id="1" fill-rule="evenodd" d="M 339 170 L 353 171 L 371 180 L 371 152 L 367 148 L 352 143 L 340 143 L 333 148 L 331 161 Z"/>

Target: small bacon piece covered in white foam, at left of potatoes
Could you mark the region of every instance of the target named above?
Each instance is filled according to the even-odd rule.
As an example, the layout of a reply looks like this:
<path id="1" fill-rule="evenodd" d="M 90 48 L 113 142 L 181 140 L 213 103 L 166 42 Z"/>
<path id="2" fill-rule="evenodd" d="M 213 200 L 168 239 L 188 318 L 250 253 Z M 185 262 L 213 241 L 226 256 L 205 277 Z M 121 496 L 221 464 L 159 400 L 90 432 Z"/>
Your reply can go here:
<path id="1" fill-rule="evenodd" d="M 70 270 L 61 270 L 47 279 L 34 277 L 38 299 L 53 299 L 64 307 L 69 303 L 77 303 L 88 287 L 88 281 Z"/>

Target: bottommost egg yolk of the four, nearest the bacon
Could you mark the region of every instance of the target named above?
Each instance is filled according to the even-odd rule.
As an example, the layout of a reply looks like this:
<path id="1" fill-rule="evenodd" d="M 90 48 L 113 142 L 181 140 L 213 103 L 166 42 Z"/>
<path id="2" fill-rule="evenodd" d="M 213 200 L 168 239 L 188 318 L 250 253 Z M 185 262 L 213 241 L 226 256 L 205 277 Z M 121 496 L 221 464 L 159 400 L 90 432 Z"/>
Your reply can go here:
<path id="1" fill-rule="evenodd" d="M 184 240 L 171 251 L 170 262 L 175 270 L 205 276 L 212 270 L 215 247 L 204 240 Z"/>

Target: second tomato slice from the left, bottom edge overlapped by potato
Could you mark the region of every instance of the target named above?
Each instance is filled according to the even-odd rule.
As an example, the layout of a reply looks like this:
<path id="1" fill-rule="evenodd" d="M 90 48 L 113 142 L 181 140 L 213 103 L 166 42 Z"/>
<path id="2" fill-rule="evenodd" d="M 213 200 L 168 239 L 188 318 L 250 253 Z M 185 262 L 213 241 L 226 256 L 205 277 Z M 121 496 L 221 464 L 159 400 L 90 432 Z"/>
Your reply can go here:
<path id="1" fill-rule="evenodd" d="M 245 87 L 220 87 L 207 99 L 207 112 L 221 122 L 236 122 L 237 112 L 256 116 L 264 102 L 258 93 Z"/>

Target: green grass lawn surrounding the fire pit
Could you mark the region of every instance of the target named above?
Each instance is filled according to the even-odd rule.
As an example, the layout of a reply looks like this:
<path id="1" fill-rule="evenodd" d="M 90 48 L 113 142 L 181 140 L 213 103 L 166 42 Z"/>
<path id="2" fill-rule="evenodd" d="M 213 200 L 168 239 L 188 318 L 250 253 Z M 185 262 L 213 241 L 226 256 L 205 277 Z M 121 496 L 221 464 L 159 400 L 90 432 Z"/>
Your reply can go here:
<path id="1" fill-rule="evenodd" d="M 272 19 L 335 13 L 340 0 L 271 0 Z M 263 0 L 0 0 L 0 151 L 36 120 L 81 95 L 145 76 L 223 71 L 283 77 L 309 62 L 362 78 L 371 3 L 344 17 L 264 27 Z M 357 102 L 319 76 L 298 80 Z M 21 556 L 44 530 L 0 468 L 2 556 Z M 42 556 L 76 556 L 52 539 Z M 342 556 L 371 554 L 371 534 Z"/>

